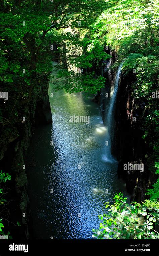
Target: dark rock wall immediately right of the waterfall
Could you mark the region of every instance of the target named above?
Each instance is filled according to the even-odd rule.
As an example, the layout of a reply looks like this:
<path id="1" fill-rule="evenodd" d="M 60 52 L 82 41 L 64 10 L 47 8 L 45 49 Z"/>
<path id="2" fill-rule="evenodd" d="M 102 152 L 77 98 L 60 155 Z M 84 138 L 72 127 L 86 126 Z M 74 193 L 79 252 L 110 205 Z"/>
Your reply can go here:
<path id="1" fill-rule="evenodd" d="M 131 200 L 141 202 L 145 198 L 146 189 L 151 182 L 147 170 L 147 153 L 149 149 L 142 139 L 140 129 L 143 122 L 145 103 L 137 101 L 132 96 L 134 74 L 121 74 L 115 108 L 114 137 L 111 143 L 111 153 L 117 157 L 118 177 L 126 181 L 126 188 L 132 194 Z M 144 170 L 124 170 L 126 163 L 144 164 Z"/>

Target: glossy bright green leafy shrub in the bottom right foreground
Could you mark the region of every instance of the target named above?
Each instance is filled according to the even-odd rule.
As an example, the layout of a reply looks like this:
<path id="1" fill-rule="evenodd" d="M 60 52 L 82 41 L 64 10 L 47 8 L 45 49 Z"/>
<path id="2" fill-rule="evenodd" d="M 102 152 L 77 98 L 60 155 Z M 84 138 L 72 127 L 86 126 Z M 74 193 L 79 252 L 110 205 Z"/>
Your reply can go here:
<path id="1" fill-rule="evenodd" d="M 114 205 L 109 207 L 109 214 L 99 215 L 103 221 L 99 229 L 93 231 L 97 239 L 158 239 L 159 233 L 155 227 L 159 222 L 159 202 L 145 200 L 142 204 L 126 203 L 121 193 L 115 194 Z"/>

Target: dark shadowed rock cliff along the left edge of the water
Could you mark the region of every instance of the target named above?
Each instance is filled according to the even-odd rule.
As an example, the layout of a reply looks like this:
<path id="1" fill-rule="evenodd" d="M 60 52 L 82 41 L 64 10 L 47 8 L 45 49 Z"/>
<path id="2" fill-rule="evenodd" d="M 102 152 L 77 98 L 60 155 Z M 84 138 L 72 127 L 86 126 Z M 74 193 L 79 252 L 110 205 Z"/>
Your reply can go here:
<path id="1" fill-rule="evenodd" d="M 27 205 L 29 198 L 27 195 L 27 175 L 25 172 L 25 156 L 34 126 L 52 122 L 52 114 L 48 97 L 48 83 L 45 91 L 41 87 L 37 99 L 33 95 L 34 104 L 24 107 L 25 122 L 18 125 L 19 137 L 13 138 L 10 135 L 8 143 L 0 151 L 0 166 L 4 172 L 11 175 L 11 182 L 8 182 L 8 209 L 10 211 L 8 221 L 14 222 L 15 226 L 10 225 L 9 231 L 15 238 L 29 238 L 29 216 Z M 11 198 L 11 199 L 10 199 Z M 13 200 L 13 201 L 11 201 Z M 18 228 L 17 221 L 22 224 Z"/>

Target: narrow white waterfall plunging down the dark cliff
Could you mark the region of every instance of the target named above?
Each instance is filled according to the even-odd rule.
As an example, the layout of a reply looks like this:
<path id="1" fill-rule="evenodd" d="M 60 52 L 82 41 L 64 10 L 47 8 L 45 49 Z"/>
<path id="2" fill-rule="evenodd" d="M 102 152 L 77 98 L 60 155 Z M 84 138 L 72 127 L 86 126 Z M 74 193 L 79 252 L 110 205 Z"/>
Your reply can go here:
<path id="1" fill-rule="evenodd" d="M 117 97 L 117 92 L 118 92 L 118 85 L 119 85 L 119 79 L 120 79 L 120 74 L 121 74 L 121 68 L 122 68 L 123 63 L 120 64 L 116 77 L 115 77 L 115 82 L 114 82 L 114 92 L 113 95 L 110 99 L 109 103 L 109 109 L 108 109 L 108 115 L 107 115 L 107 123 L 108 123 L 108 131 L 109 134 L 113 130 L 114 126 L 114 107 L 115 107 L 115 102 L 116 102 L 116 97 Z M 112 134 L 113 135 L 113 134 Z"/>

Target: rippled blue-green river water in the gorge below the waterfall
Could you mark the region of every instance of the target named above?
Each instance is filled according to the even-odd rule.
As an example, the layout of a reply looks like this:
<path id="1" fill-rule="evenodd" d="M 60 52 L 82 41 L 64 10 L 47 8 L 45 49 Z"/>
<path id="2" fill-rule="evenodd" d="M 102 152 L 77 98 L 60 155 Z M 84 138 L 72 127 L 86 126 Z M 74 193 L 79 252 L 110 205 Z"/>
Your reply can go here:
<path id="1" fill-rule="evenodd" d="M 91 98 L 56 92 L 50 98 L 53 123 L 35 130 L 26 167 L 36 239 L 92 239 L 98 215 L 108 212 L 104 203 L 113 203 L 120 191 L 128 197 L 117 178 L 118 162 L 110 157 L 108 129 Z M 71 123 L 73 115 L 89 116 L 90 123 Z"/>

